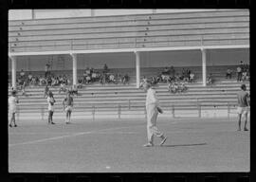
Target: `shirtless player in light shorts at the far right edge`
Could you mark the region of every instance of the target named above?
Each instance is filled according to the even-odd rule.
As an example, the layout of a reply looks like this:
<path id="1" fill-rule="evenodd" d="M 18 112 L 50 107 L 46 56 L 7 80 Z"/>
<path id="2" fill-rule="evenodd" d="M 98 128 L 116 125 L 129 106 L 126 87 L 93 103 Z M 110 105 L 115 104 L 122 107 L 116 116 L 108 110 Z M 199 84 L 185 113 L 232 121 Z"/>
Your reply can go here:
<path id="1" fill-rule="evenodd" d="M 246 84 L 242 84 L 241 90 L 237 93 L 238 131 L 241 131 L 241 118 L 242 118 L 243 114 L 245 114 L 245 118 L 246 118 L 244 131 L 248 131 L 248 129 L 247 129 L 247 113 L 248 113 L 248 106 L 249 106 L 249 95 L 246 90 L 247 90 Z"/>

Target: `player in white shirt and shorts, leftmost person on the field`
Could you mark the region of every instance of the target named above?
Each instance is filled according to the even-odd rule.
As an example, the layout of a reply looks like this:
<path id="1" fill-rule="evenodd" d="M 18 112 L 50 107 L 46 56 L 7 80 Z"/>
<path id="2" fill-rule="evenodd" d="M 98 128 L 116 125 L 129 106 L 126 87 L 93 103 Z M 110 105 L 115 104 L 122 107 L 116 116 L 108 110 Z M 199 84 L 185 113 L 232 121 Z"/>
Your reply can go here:
<path id="1" fill-rule="evenodd" d="M 11 96 L 9 97 L 9 114 L 11 116 L 9 121 L 9 127 L 12 127 L 12 122 L 14 123 L 14 127 L 17 127 L 17 124 L 15 122 L 15 113 L 16 113 L 16 104 L 19 103 L 18 98 L 16 97 L 16 91 L 11 91 Z"/>

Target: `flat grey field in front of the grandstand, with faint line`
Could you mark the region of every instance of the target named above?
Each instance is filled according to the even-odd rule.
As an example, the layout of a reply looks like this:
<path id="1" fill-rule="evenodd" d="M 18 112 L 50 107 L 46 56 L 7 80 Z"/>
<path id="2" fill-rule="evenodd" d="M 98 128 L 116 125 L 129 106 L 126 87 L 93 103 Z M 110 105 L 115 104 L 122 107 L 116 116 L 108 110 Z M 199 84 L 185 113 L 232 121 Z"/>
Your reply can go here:
<path id="1" fill-rule="evenodd" d="M 145 119 L 20 120 L 9 128 L 9 173 L 249 172 L 249 131 L 224 118 L 159 118 L 168 137 L 147 142 Z M 242 126 L 244 121 L 242 122 Z M 248 125 L 249 129 L 249 125 Z"/>

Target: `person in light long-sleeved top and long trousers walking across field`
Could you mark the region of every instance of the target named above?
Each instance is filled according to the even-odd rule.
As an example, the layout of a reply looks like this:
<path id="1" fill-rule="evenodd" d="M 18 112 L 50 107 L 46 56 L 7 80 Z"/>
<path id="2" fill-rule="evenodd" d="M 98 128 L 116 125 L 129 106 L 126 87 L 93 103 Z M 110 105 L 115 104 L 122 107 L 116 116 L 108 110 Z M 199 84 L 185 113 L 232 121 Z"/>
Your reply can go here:
<path id="1" fill-rule="evenodd" d="M 143 85 L 144 91 L 147 92 L 146 98 L 146 112 L 147 112 L 147 135 L 148 135 L 148 143 L 144 145 L 144 147 L 153 147 L 153 138 L 161 137 L 162 141 L 160 145 L 163 145 L 166 141 L 167 137 L 164 137 L 164 134 L 161 133 L 156 128 L 156 118 L 159 113 L 163 113 L 162 109 L 159 107 L 159 101 L 155 97 L 155 90 L 151 87 L 150 83 L 145 83 Z"/>

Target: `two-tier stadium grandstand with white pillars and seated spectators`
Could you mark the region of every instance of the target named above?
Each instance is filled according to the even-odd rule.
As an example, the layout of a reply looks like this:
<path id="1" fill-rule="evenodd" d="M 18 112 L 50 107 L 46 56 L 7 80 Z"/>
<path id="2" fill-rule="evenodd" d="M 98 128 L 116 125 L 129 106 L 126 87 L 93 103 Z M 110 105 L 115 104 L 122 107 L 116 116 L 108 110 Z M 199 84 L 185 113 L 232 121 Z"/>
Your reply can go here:
<path id="1" fill-rule="evenodd" d="M 46 84 L 55 118 L 64 118 L 61 88 L 72 85 L 74 118 L 144 118 L 140 82 L 153 77 L 162 116 L 236 117 L 242 82 L 249 91 L 248 9 L 9 10 L 9 93 L 20 90 L 20 119 L 46 116 Z M 176 80 L 186 91 L 170 91 Z"/>

